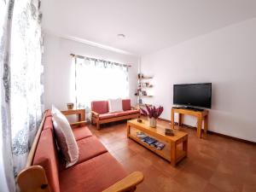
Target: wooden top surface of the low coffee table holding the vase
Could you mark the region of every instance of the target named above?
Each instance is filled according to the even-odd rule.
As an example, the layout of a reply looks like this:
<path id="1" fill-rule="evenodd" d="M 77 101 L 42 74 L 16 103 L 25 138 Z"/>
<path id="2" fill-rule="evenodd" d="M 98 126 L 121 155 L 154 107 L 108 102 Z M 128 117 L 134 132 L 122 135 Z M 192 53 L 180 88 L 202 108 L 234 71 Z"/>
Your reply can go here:
<path id="1" fill-rule="evenodd" d="M 137 122 L 137 119 L 128 120 L 127 125 L 131 125 L 137 128 L 138 130 L 144 131 L 148 134 L 152 134 L 155 137 L 165 137 L 165 139 L 170 140 L 172 142 L 176 142 L 180 138 L 188 136 L 188 133 L 183 131 L 177 131 L 177 130 L 173 131 L 174 136 L 166 136 L 165 131 L 168 127 L 157 125 L 156 128 L 152 128 L 149 126 L 148 120 L 144 120 L 144 119 L 142 123 Z"/>

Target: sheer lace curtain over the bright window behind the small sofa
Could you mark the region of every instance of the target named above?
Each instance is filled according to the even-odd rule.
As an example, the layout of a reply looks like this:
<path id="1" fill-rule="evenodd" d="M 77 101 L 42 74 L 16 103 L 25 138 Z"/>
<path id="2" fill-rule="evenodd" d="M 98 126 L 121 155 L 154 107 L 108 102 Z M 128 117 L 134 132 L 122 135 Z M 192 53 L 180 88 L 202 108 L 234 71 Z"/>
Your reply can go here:
<path id="1" fill-rule="evenodd" d="M 85 108 L 90 119 L 90 102 L 129 96 L 128 67 L 110 61 L 75 58 L 77 108 Z"/>

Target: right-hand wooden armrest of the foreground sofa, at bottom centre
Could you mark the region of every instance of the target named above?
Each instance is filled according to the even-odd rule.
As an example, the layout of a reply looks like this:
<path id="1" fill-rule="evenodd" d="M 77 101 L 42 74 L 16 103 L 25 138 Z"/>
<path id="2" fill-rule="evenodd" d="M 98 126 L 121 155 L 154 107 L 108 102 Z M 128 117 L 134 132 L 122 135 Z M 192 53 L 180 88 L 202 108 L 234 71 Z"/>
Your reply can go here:
<path id="1" fill-rule="evenodd" d="M 132 172 L 127 177 L 123 178 L 117 183 L 111 185 L 108 189 L 103 190 L 102 192 L 126 192 L 134 191 L 137 184 L 142 183 L 144 179 L 142 172 Z"/>

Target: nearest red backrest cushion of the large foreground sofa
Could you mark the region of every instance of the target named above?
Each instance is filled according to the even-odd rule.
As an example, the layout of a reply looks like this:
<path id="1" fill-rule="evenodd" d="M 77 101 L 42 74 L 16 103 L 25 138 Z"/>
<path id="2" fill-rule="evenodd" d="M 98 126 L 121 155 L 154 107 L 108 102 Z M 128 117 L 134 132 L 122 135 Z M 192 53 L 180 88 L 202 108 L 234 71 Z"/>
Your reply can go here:
<path id="1" fill-rule="evenodd" d="M 32 165 L 44 167 L 52 192 L 60 192 L 58 158 L 52 129 L 41 132 Z"/>

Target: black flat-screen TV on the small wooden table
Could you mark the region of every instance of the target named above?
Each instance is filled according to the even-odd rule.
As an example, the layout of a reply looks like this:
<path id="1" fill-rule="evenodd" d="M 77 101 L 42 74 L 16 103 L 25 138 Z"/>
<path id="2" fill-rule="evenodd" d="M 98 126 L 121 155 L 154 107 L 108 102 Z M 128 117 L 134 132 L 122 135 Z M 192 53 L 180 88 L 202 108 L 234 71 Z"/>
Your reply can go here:
<path id="1" fill-rule="evenodd" d="M 174 84 L 173 104 L 185 107 L 212 107 L 212 83 Z"/>

